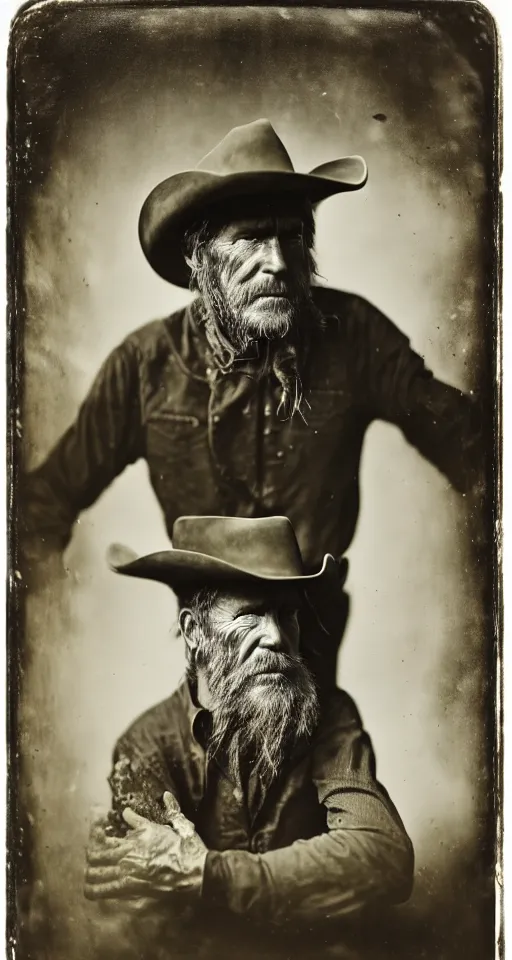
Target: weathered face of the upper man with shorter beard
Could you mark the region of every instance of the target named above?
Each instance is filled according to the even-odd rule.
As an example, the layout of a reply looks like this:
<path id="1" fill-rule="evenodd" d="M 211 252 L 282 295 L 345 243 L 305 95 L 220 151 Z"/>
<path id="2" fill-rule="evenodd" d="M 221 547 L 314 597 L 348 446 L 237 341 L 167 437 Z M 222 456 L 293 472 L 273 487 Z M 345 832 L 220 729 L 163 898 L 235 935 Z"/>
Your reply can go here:
<path id="1" fill-rule="evenodd" d="M 283 336 L 311 276 L 300 217 L 248 217 L 212 242 L 219 291 L 253 338 Z"/>

